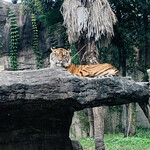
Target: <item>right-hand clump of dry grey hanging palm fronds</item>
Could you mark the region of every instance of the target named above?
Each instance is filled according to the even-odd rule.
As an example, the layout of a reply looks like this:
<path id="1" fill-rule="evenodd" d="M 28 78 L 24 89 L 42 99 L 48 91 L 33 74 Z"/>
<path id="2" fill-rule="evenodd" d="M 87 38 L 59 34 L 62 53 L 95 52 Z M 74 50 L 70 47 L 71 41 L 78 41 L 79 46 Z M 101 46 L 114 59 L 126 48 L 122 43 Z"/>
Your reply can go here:
<path id="1" fill-rule="evenodd" d="M 107 0 L 95 0 L 89 11 L 87 37 L 94 37 L 95 41 L 104 40 L 107 45 L 114 35 L 115 14 Z"/>

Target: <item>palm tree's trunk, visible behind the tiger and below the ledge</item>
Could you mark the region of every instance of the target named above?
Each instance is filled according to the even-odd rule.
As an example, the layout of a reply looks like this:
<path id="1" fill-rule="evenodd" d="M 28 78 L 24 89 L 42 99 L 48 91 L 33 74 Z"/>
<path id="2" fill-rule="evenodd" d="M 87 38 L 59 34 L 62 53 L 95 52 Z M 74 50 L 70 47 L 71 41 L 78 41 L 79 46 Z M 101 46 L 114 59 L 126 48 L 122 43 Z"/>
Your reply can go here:
<path id="1" fill-rule="evenodd" d="M 95 41 L 91 40 L 87 44 L 86 49 L 86 64 L 97 64 L 98 63 L 98 49 Z M 95 149 L 105 150 L 104 144 L 104 112 L 103 107 L 93 108 L 94 116 L 94 135 L 95 135 Z"/>

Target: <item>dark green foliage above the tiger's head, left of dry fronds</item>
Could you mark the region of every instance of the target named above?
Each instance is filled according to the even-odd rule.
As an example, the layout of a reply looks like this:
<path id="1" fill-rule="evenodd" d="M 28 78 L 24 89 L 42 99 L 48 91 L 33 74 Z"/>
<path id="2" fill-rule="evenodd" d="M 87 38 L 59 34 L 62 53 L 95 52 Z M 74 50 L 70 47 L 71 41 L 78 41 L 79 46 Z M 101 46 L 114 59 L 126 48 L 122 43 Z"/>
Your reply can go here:
<path id="1" fill-rule="evenodd" d="M 56 39 L 65 37 L 63 17 L 59 11 L 63 0 L 22 0 L 22 2 L 27 6 L 26 12 L 36 14 L 37 18 L 48 28 L 51 47 L 57 47 Z"/>

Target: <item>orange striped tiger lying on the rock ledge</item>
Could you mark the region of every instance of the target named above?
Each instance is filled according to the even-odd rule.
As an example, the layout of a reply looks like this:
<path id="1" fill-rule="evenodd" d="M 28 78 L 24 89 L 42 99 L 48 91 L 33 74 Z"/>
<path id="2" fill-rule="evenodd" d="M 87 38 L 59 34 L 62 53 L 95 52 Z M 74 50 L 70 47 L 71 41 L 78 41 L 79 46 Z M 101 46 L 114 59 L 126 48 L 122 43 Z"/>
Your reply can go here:
<path id="1" fill-rule="evenodd" d="M 111 64 L 75 65 L 71 62 L 71 50 L 64 48 L 51 49 L 50 68 L 56 66 L 65 68 L 68 72 L 79 77 L 113 77 L 118 76 L 119 71 Z"/>

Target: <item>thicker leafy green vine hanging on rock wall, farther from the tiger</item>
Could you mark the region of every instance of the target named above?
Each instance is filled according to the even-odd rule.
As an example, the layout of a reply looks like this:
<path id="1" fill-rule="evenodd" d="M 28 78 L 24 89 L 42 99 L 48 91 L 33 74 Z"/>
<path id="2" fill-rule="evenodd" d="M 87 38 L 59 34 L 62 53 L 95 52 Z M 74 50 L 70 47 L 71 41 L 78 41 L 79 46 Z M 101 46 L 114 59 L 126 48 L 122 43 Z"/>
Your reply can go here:
<path id="1" fill-rule="evenodd" d="M 17 56 L 19 44 L 19 31 L 12 8 L 10 8 L 8 16 L 10 19 L 10 62 L 12 70 L 16 71 L 18 70 Z"/>

